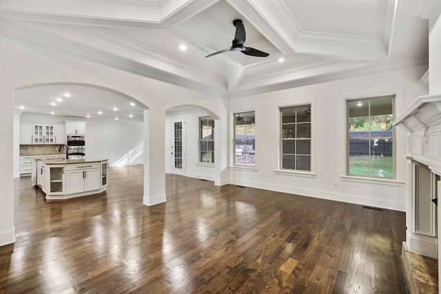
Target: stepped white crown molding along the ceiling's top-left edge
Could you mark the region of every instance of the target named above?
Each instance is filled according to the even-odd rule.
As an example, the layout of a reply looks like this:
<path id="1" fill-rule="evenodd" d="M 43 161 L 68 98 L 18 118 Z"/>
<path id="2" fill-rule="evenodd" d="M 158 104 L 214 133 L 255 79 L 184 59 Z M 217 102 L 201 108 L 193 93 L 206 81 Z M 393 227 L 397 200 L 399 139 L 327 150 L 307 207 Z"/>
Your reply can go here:
<path id="1" fill-rule="evenodd" d="M 72 1 L 76 5 L 72 5 Z M 183 10 L 192 0 L 3 0 L 6 17 L 28 21 L 61 21 L 101 25 L 161 23 Z"/>

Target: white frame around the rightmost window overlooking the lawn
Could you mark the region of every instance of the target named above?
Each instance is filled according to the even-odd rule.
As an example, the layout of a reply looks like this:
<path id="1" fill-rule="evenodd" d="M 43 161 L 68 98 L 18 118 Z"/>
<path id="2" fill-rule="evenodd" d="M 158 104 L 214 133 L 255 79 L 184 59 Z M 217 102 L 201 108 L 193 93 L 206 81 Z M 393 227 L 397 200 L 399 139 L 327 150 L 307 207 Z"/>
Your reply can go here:
<path id="1" fill-rule="evenodd" d="M 399 183 L 398 178 L 400 178 L 400 176 L 398 175 L 398 162 L 397 162 L 397 137 L 398 137 L 398 129 L 396 128 L 395 125 L 393 125 L 392 127 L 392 142 L 393 142 L 393 147 L 392 147 L 392 177 L 381 177 L 381 176 L 365 176 L 365 175 L 351 175 L 349 174 L 349 152 L 350 152 L 350 148 L 349 148 L 349 103 L 351 102 L 355 102 L 355 101 L 371 101 L 371 100 L 375 100 L 375 99 L 380 99 L 380 98 L 392 98 L 392 121 L 396 118 L 397 116 L 397 99 L 398 99 L 398 94 L 393 94 L 393 93 L 389 93 L 389 94 L 380 94 L 380 95 L 372 95 L 372 96 L 359 96 L 359 97 L 351 97 L 351 98 L 345 98 L 344 99 L 344 104 L 345 104 L 345 125 L 344 125 L 344 139 L 345 140 L 345 154 L 344 154 L 344 161 L 345 162 L 345 171 L 343 172 L 343 175 L 341 176 L 341 178 L 343 178 L 344 180 L 365 180 L 365 181 L 381 181 L 381 182 L 397 182 Z M 369 105 L 369 116 L 370 116 L 370 105 Z M 371 132 L 371 131 L 369 131 Z M 369 135 L 369 140 L 373 140 L 373 137 L 370 137 Z M 369 155 L 370 156 L 370 155 Z"/>

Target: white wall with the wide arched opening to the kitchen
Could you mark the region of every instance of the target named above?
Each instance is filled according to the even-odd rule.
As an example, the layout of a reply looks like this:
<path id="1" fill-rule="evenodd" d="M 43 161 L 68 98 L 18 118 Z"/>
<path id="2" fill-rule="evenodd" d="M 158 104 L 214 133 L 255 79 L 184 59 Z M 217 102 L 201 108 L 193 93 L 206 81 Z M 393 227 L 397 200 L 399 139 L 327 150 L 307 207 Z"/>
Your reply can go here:
<path id="1" fill-rule="evenodd" d="M 150 132 L 143 135 L 152 145 L 144 144 L 144 165 L 154 167 L 154 171 L 164 170 L 165 158 L 165 109 L 164 101 L 179 98 L 179 101 L 198 101 L 207 98 L 206 94 L 169 85 L 151 78 L 137 76 L 121 70 L 97 65 L 62 52 L 48 52 L 38 47 L 28 48 L 15 41 L 0 36 L 0 138 L 9 144 L 2 145 L 0 152 L 0 246 L 15 241 L 14 231 L 14 92 L 25 86 L 45 83 L 84 83 L 107 87 L 126 94 L 149 108 L 152 120 L 147 120 Z M 178 99 L 175 99 L 178 101 Z M 161 132 L 161 136 L 159 133 Z M 152 138 L 150 138 L 152 137 Z M 144 140 L 144 142 L 146 142 Z M 148 145 L 148 144 L 147 144 Z M 153 170 L 153 169 L 152 169 Z M 152 185 L 149 183 L 152 182 Z M 144 196 L 140 201 L 155 204 L 156 199 L 165 198 L 164 172 L 144 174 Z M 157 196 L 157 197 L 156 197 Z"/>

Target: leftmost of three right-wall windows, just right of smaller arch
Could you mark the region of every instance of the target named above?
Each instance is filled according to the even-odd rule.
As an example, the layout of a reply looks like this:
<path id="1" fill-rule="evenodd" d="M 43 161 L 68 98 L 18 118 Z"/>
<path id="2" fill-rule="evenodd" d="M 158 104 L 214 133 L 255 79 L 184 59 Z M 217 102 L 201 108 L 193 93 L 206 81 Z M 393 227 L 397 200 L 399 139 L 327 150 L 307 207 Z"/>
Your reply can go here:
<path id="1" fill-rule="evenodd" d="M 254 112 L 234 114 L 234 165 L 256 166 Z"/>

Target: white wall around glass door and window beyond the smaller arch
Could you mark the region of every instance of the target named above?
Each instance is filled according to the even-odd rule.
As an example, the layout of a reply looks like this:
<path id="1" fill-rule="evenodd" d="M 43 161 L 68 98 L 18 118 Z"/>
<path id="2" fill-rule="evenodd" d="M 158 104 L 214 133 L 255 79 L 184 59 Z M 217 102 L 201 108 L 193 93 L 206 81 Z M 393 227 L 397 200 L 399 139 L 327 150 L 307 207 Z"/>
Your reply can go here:
<path id="1" fill-rule="evenodd" d="M 173 125 L 172 120 L 184 118 L 186 121 L 186 162 L 185 176 L 192 178 L 201 178 L 203 180 L 214 180 L 215 165 L 203 164 L 198 162 L 198 130 L 199 118 L 209 116 L 207 112 L 193 111 L 185 114 L 173 114 L 165 118 L 165 172 L 172 172 L 172 155 L 170 148 L 173 144 Z M 216 132 L 216 129 L 214 129 Z M 215 150 L 216 152 L 216 150 Z"/>

